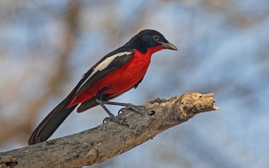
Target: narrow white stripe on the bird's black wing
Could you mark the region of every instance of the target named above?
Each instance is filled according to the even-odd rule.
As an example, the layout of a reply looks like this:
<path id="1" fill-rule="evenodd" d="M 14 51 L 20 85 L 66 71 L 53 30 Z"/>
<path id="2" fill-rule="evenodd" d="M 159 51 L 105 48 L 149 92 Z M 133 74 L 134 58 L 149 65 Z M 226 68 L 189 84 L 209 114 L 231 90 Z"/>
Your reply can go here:
<path id="1" fill-rule="evenodd" d="M 97 65 L 94 70 L 92 71 L 91 75 L 88 76 L 88 78 L 80 85 L 79 89 L 77 90 L 77 92 L 80 90 L 80 88 L 86 83 L 86 81 L 88 81 L 92 75 L 94 75 L 97 71 L 101 71 L 104 70 L 116 57 L 120 57 L 123 55 L 129 55 L 132 52 L 123 52 L 123 53 L 117 53 L 113 56 L 110 56 L 108 58 L 106 58 L 103 62 L 101 62 L 99 65 Z"/>

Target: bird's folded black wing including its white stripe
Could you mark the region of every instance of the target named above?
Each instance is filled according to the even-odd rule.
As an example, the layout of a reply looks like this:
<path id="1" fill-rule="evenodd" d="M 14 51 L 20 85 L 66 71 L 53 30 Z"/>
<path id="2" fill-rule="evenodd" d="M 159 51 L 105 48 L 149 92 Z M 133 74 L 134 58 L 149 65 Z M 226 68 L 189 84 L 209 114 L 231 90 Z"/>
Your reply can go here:
<path id="1" fill-rule="evenodd" d="M 77 84 L 78 89 L 74 95 L 73 101 L 80 93 L 91 87 L 95 82 L 126 64 L 126 62 L 129 61 L 134 54 L 135 52 L 133 49 L 120 47 L 104 56 L 93 67 L 91 67 L 87 73 L 84 74 L 84 77 Z"/>

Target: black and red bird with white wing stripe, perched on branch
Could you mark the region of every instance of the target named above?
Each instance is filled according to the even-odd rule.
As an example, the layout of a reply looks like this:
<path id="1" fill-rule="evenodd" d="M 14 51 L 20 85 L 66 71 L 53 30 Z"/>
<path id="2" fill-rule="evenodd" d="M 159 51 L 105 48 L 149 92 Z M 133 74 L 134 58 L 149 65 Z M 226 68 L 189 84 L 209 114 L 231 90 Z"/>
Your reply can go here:
<path id="1" fill-rule="evenodd" d="M 112 120 L 129 127 L 125 118 L 114 116 L 105 104 L 124 106 L 120 110 L 122 112 L 132 109 L 143 114 L 143 106 L 109 100 L 137 88 L 146 74 L 152 54 L 163 49 L 178 50 L 158 31 L 146 29 L 133 36 L 122 47 L 105 55 L 82 76 L 71 93 L 36 127 L 28 145 L 48 140 L 79 104 L 79 113 L 100 105 L 109 115 L 103 123 Z"/>

